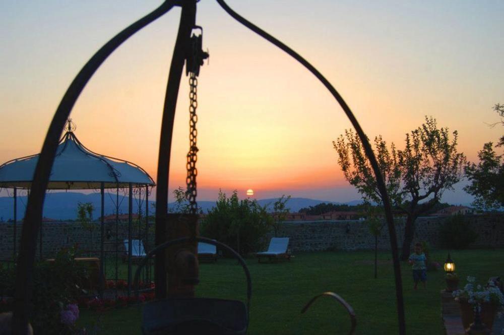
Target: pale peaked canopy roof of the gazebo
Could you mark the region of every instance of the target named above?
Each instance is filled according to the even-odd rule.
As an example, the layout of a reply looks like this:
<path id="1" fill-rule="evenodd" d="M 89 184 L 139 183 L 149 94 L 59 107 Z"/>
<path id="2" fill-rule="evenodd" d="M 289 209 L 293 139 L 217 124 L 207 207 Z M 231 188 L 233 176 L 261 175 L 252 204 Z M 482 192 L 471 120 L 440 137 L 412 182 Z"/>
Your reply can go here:
<path id="1" fill-rule="evenodd" d="M 0 166 L 0 187 L 29 188 L 39 154 L 21 157 Z M 154 185 L 140 166 L 121 159 L 99 155 L 82 145 L 69 128 L 62 137 L 49 177 L 48 189 L 87 189 Z"/>

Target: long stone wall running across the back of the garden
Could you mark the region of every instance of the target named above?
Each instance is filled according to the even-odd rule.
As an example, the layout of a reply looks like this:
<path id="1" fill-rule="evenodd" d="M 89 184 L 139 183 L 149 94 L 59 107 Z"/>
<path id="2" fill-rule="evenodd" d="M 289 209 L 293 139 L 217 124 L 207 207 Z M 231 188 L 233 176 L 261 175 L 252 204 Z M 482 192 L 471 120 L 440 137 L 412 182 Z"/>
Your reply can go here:
<path id="1" fill-rule="evenodd" d="M 440 247 L 439 228 L 444 224 L 445 217 L 424 217 L 416 221 L 415 241 L 425 240 L 436 248 Z M 468 215 L 466 220 L 478 232 L 478 239 L 472 244 L 474 248 L 504 247 L 504 215 Z M 22 224 L 17 225 L 18 240 L 21 236 Z M 110 230 L 109 238 L 105 238 L 105 249 L 115 250 L 115 224 L 105 224 L 105 232 Z M 404 220 L 396 220 L 396 230 L 399 243 L 404 236 Z M 138 226 L 133 225 L 133 238 L 138 238 Z M 107 235 L 107 234 L 105 234 Z M 365 221 L 299 221 L 286 222 L 279 236 L 290 238 L 290 249 L 293 251 L 315 250 L 357 250 L 374 248 L 374 236 L 369 233 Z M 86 252 L 85 255 L 98 255 L 100 250 L 99 225 L 91 234 L 79 222 L 45 222 L 42 230 L 43 254 L 45 258 L 53 257 L 61 247 L 72 246 L 75 243 Z M 118 224 L 119 241 L 128 238 L 128 224 Z M 142 227 L 141 238 L 145 243 L 145 227 Z M 269 239 L 269 237 L 268 237 Z M 149 245 L 154 242 L 153 229 L 149 233 Z M 378 239 L 380 249 L 389 249 L 388 231 L 385 227 Z M 19 244 L 18 244 L 19 245 Z M 19 248 L 19 247 L 18 247 Z M 119 243 L 120 254 L 124 247 Z M 0 259 L 11 259 L 13 250 L 13 224 L 0 224 Z M 38 254 L 37 243 L 37 254 Z M 113 253 L 108 253 L 113 256 Z"/>

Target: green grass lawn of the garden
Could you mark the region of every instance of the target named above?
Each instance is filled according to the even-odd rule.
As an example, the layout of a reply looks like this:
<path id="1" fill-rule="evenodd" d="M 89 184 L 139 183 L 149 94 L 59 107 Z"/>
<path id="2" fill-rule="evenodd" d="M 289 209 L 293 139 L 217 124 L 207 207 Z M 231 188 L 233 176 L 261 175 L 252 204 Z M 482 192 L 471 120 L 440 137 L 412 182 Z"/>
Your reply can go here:
<path id="1" fill-rule="evenodd" d="M 443 263 L 446 250 L 431 251 Z M 452 251 L 462 284 L 468 275 L 486 281 L 504 273 L 504 250 Z M 373 253 L 313 252 L 296 254 L 290 262 L 261 263 L 247 259 L 253 282 L 248 334 L 345 334 L 350 321 L 335 300 L 322 298 L 306 314 L 300 311 L 314 295 L 333 291 L 357 315 L 357 334 L 397 333 L 396 297 L 389 252 L 379 254 L 378 279 L 373 278 Z M 411 270 L 402 263 L 406 328 L 410 335 L 441 335 L 439 291 L 444 272 L 429 272 L 427 288 L 413 290 Z M 245 281 L 235 260 L 202 264 L 198 296 L 244 299 Z M 105 312 L 82 311 L 79 326 L 97 325 L 99 334 L 140 333 L 141 308 Z"/>

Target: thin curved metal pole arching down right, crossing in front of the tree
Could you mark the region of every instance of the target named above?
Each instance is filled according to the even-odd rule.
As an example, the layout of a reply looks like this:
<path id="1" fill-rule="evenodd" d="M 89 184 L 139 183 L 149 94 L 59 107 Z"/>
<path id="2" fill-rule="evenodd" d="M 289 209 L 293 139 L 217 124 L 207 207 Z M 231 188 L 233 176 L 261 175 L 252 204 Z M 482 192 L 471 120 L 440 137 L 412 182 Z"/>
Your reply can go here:
<path id="1" fill-rule="evenodd" d="M 359 122 L 353 115 L 352 111 L 350 110 L 350 107 L 346 104 L 345 100 L 341 97 L 341 95 L 336 91 L 336 89 L 331 85 L 331 83 L 316 69 L 314 68 L 313 65 L 311 65 L 306 59 L 301 57 L 297 52 L 289 48 L 287 45 L 284 43 L 280 42 L 278 39 L 275 37 L 271 36 L 258 26 L 254 25 L 253 23 L 247 21 L 245 18 L 241 17 L 239 14 L 234 12 L 227 4 L 224 2 L 224 0 L 216 0 L 217 3 L 226 11 L 231 17 L 233 17 L 236 21 L 247 27 L 248 29 L 254 31 L 256 34 L 260 35 L 261 37 L 265 38 L 266 40 L 270 41 L 286 53 L 288 53 L 290 56 L 292 56 L 294 59 L 296 59 L 298 62 L 300 62 L 306 69 L 308 69 L 309 72 L 311 72 L 317 79 L 319 79 L 322 84 L 331 92 L 333 97 L 338 101 L 340 104 L 341 108 L 347 115 L 348 119 L 352 123 L 353 127 L 355 128 L 355 131 L 359 135 L 360 141 L 362 142 L 362 145 L 364 147 L 364 151 L 366 153 L 367 158 L 369 159 L 369 163 L 371 164 L 371 167 L 373 169 L 374 175 L 376 176 L 376 183 L 378 186 L 378 189 L 380 191 L 380 194 L 382 196 L 383 200 L 383 205 L 385 209 L 385 216 L 387 218 L 387 224 L 389 227 L 389 237 L 390 237 L 390 246 L 392 249 L 392 257 L 393 257 L 393 262 L 394 262 L 394 276 L 395 276 L 395 283 L 396 283 L 396 297 L 397 297 L 397 313 L 399 317 L 399 333 L 401 335 L 404 335 L 406 333 L 406 324 L 405 324 L 405 318 L 404 318 L 404 302 L 403 302 L 403 287 L 402 287 L 402 280 L 401 280 L 401 265 L 399 263 L 399 253 L 397 250 L 397 236 L 396 236 L 396 229 L 394 226 L 394 218 L 392 216 L 392 207 L 390 204 L 390 199 L 389 195 L 387 193 L 387 188 L 385 186 L 385 181 L 382 176 L 382 173 L 380 171 L 380 167 L 378 165 L 378 162 L 376 161 L 376 157 L 374 156 L 373 150 L 371 148 L 371 145 L 369 144 L 369 141 L 367 139 L 367 136 L 365 135 L 364 131 L 359 125 Z"/>

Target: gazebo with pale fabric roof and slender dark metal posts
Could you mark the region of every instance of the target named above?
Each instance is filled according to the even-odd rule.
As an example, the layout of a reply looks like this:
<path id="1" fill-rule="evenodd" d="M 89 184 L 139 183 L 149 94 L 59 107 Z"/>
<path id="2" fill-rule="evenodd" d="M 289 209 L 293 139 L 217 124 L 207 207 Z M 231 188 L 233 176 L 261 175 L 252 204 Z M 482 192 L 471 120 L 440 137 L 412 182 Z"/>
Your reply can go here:
<path id="1" fill-rule="evenodd" d="M 148 226 L 148 194 L 149 187 L 155 185 L 154 180 L 140 166 L 113 157 L 97 154 L 87 149 L 74 134 L 75 125 L 69 119 L 67 131 L 61 138 L 47 189 L 100 189 L 101 191 L 101 249 L 100 249 L 100 271 L 104 276 L 104 189 L 129 188 L 129 265 L 128 279 L 131 283 L 131 256 L 132 256 L 132 198 L 133 187 L 145 187 L 146 200 L 146 232 Z M 39 154 L 16 158 L 0 166 L 0 187 L 13 188 L 14 196 L 14 247 L 16 255 L 16 224 L 17 224 L 17 190 L 30 189 L 33 174 Z M 116 214 L 118 212 L 116 203 Z M 117 223 L 116 223 L 117 228 Z M 40 232 L 40 257 L 42 257 L 42 229 Z M 147 236 L 146 236 L 147 237 Z M 146 238 L 147 240 L 147 238 Z M 146 241 L 147 242 L 147 241 Z M 117 231 L 116 231 L 116 257 L 117 257 Z M 116 269 L 117 273 L 117 269 Z"/>

